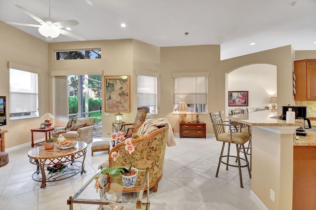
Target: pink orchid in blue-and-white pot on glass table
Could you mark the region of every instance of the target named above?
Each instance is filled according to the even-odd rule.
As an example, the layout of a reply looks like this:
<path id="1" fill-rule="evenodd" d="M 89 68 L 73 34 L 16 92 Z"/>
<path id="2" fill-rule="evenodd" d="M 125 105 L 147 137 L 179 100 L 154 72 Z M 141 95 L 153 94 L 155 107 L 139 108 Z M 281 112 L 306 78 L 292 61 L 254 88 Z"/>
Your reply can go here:
<path id="1" fill-rule="evenodd" d="M 113 134 L 112 138 L 118 139 L 118 142 L 121 142 L 125 140 L 125 138 L 122 136 L 121 132 L 118 132 L 117 134 Z M 119 167 L 111 167 L 111 168 L 106 168 L 101 171 L 101 174 L 103 175 L 109 175 L 110 177 L 122 176 L 122 183 L 126 188 L 131 188 L 135 185 L 136 180 L 137 180 L 137 173 L 138 170 L 136 168 L 133 168 L 133 162 L 134 159 L 131 157 L 131 154 L 135 151 L 135 147 L 130 139 L 127 139 L 124 141 L 125 145 L 125 150 L 119 154 L 119 152 L 114 151 L 111 154 L 111 157 L 113 158 L 114 161 L 117 160 L 119 156 L 123 158 L 127 158 L 127 163 L 130 160 L 130 164 L 128 167 L 125 166 L 119 166 Z"/>

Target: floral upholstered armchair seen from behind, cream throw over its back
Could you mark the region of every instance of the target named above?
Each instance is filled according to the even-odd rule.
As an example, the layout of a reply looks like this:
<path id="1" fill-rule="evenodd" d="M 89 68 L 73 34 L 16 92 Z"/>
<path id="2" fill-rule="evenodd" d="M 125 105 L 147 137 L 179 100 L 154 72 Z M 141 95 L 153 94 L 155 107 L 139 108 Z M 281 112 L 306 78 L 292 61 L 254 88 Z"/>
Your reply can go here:
<path id="1" fill-rule="evenodd" d="M 162 126 L 155 127 L 155 129 L 147 129 L 149 132 L 151 132 L 149 134 L 145 133 L 144 135 L 141 135 L 134 133 L 132 135 L 131 142 L 135 150 L 131 153 L 130 158 L 134 160 L 132 164 L 133 167 L 138 169 L 146 169 L 147 167 L 149 168 L 149 187 L 153 188 L 154 192 L 157 192 L 158 181 L 162 177 L 164 154 L 168 140 L 169 123 L 164 123 Z M 137 128 L 139 129 L 139 127 Z M 112 153 L 123 154 L 125 145 L 126 144 L 124 142 L 115 145 L 109 153 L 109 159 L 100 167 L 105 168 L 128 166 L 130 164 L 130 159 L 129 162 L 127 162 L 128 160 L 122 155 L 118 157 L 114 157 L 114 155 L 112 155 Z M 115 161 L 114 158 L 116 158 Z"/>

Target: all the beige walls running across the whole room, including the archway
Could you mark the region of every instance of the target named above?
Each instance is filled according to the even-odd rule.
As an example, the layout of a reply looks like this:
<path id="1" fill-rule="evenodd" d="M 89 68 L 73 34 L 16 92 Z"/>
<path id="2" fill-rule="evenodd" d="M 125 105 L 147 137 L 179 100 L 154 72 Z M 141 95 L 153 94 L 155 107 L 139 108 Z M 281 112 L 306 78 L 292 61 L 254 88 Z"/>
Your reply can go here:
<path id="1" fill-rule="evenodd" d="M 225 110 L 227 104 L 226 73 L 249 64 L 272 64 L 277 67 L 278 107 L 293 102 L 292 70 L 293 50 L 291 46 L 279 47 L 250 55 L 220 61 L 220 45 L 197 45 L 181 47 L 157 47 L 133 39 L 73 41 L 47 44 L 10 25 L 0 22 L 1 34 L 1 83 L 0 95 L 9 96 L 7 62 L 15 62 L 39 68 L 40 115 L 53 112 L 52 75 L 102 74 L 131 76 L 131 112 L 124 113 L 124 120 L 133 122 L 137 110 L 137 71 L 152 71 L 159 75 L 158 115 L 170 120 L 178 132 L 178 115 L 173 114 L 173 72 L 209 72 L 208 112 Z M 3 29 L 3 30 L 2 30 Z M 100 48 L 102 59 L 55 61 L 56 50 Z M 296 60 L 316 57 L 316 51 L 296 51 Z M 49 69 L 48 69 L 49 67 Z M 48 73 L 48 70 L 50 73 Z M 102 85 L 102 87 L 104 87 Z M 159 88 L 160 87 L 160 88 Z M 104 90 L 103 90 L 104 92 Z M 104 95 L 103 95 L 104 98 Z M 160 99 L 160 100 L 159 100 Z M 62 102 L 60 102 L 62 103 Z M 104 103 L 102 104 L 104 110 Z M 115 113 L 103 116 L 103 137 L 112 133 Z M 9 112 L 7 110 L 7 116 Z M 189 119 L 190 116 L 188 116 Z M 201 114 L 200 121 L 207 123 L 207 133 L 211 133 L 208 114 Z M 30 128 L 39 126 L 39 118 L 8 120 L 6 148 L 31 139 Z M 36 134 L 36 139 L 43 138 Z"/>

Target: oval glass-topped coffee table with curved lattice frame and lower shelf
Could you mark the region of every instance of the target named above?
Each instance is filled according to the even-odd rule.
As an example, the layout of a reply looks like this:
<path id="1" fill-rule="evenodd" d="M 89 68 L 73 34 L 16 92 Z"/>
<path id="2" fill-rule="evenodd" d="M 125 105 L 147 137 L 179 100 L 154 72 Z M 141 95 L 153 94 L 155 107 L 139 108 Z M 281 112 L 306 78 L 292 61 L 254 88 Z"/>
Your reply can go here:
<path id="1" fill-rule="evenodd" d="M 28 152 L 30 163 L 37 165 L 37 170 L 32 175 L 33 180 L 41 182 L 40 187 L 44 188 L 46 182 L 58 181 L 78 173 L 86 173 L 84 170 L 84 160 L 87 143 L 78 141 L 77 144 L 69 149 L 45 149 L 44 146 L 36 147 Z M 82 160 L 78 160 L 83 157 Z M 63 170 L 46 171 L 45 167 L 61 164 Z M 46 176 L 47 172 L 47 176 Z"/>

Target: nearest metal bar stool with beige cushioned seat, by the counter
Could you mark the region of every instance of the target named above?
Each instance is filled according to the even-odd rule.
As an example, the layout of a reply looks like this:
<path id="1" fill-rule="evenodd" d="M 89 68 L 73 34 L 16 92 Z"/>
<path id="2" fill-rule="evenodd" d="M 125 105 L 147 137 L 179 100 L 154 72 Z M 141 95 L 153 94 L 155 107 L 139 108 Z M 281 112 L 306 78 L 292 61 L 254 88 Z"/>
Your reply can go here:
<path id="1" fill-rule="evenodd" d="M 222 120 L 222 116 L 221 116 L 221 112 L 209 113 L 209 115 L 211 117 L 211 121 L 212 121 L 212 125 L 213 125 L 213 129 L 214 129 L 214 134 L 215 134 L 216 140 L 223 142 L 222 151 L 221 151 L 221 155 L 219 157 L 219 161 L 218 161 L 218 166 L 217 166 L 217 171 L 216 171 L 215 177 L 218 177 L 218 172 L 219 172 L 221 163 L 226 165 L 226 170 L 228 170 L 229 166 L 231 166 L 231 167 L 238 167 L 240 187 L 243 188 L 242 176 L 241 176 L 241 168 L 247 167 L 248 173 L 249 173 L 249 177 L 251 178 L 249 162 L 247 160 L 247 155 L 246 155 L 246 151 L 245 151 L 245 147 L 244 147 L 244 143 L 247 142 L 248 140 L 250 140 L 250 136 L 247 135 L 247 134 L 238 133 L 238 132 L 234 133 L 234 132 L 232 132 L 232 129 L 229 129 L 229 132 L 225 132 L 225 127 L 224 126 L 234 126 L 234 125 L 229 124 L 230 121 L 223 121 Z M 228 124 L 226 124 L 226 123 L 228 123 Z M 224 148 L 225 148 L 225 143 L 228 143 L 227 155 L 223 155 Z M 237 156 L 230 155 L 231 143 L 236 144 Z M 239 157 L 239 148 L 238 148 L 239 145 L 241 146 L 241 148 L 243 150 L 244 158 L 240 158 Z M 222 160 L 225 157 L 227 158 L 226 162 L 224 162 Z M 229 163 L 229 158 L 230 157 L 237 158 L 237 163 L 238 163 L 237 166 L 236 165 L 232 165 L 232 164 Z M 245 161 L 245 165 L 241 165 L 240 164 L 240 160 Z"/>

